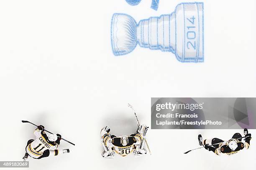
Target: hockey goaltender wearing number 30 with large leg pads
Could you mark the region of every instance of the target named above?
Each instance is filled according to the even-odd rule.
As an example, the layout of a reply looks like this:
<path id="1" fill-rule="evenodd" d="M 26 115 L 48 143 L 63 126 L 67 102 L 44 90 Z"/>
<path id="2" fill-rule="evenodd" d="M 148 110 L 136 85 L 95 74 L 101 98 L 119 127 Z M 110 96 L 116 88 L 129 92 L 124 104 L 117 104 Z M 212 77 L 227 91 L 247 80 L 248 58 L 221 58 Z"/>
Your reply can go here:
<path id="1" fill-rule="evenodd" d="M 102 157 L 113 158 L 115 153 L 121 156 L 127 156 L 132 152 L 136 157 L 146 155 L 147 150 L 144 149 L 144 143 L 147 130 L 148 126 L 138 125 L 138 130 L 135 134 L 116 137 L 115 135 L 110 135 L 110 128 L 105 126 L 100 132 L 101 142 L 104 148 Z"/>

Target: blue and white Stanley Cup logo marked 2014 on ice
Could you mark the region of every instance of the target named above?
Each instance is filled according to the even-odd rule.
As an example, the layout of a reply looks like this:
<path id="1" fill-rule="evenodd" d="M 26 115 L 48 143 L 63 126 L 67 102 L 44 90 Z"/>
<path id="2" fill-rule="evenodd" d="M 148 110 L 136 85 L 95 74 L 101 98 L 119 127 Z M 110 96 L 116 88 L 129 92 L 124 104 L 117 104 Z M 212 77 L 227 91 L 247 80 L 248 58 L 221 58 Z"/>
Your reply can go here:
<path id="1" fill-rule="evenodd" d="M 204 62 L 203 2 L 181 3 L 171 14 L 140 20 L 115 13 L 111 45 L 116 56 L 132 52 L 137 44 L 172 52 L 180 62 Z"/>

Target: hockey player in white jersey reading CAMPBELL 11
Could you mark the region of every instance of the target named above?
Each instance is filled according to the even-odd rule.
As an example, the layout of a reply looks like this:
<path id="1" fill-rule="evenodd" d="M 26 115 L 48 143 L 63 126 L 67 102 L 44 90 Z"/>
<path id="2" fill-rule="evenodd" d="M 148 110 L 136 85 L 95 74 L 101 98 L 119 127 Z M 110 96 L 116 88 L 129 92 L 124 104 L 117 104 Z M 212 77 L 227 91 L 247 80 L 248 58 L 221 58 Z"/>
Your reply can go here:
<path id="1" fill-rule="evenodd" d="M 26 153 L 23 160 L 26 161 L 28 155 L 34 159 L 41 159 L 49 155 L 59 155 L 62 153 L 69 153 L 69 149 L 57 150 L 61 135 L 51 134 L 49 136 L 44 132 L 44 126 L 40 125 L 34 130 L 36 139 L 28 140 L 26 146 Z"/>

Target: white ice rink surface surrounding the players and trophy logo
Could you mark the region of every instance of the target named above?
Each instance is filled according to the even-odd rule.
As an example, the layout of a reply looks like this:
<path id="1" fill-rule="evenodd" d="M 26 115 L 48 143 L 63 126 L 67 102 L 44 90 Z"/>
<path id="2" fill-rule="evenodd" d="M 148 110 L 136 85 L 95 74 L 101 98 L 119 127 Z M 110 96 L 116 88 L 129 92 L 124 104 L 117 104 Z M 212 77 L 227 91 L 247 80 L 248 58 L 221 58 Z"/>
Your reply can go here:
<path id="1" fill-rule="evenodd" d="M 136 120 L 150 125 L 150 97 L 256 97 L 256 2 L 203 1 L 205 63 L 180 63 L 170 52 L 136 47 L 115 57 L 113 13 L 136 21 L 171 13 L 184 1 L 129 6 L 125 0 L 8 0 L 0 2 L 0 160 L 21 160 L 34 127 L 42 124 L 76 146 L 72 152 L 30 159 L 32 170 L 253 169 L 256 142 L 233 156 L 197 148 L 197 135 L 228 139 L 237 130 L 148 130 L 152 155 L 102 159 L 100 129 L 131 134 Z M 186 2 L 189 2 L 187 0 Z M 192 2 L 192 1 L 191 1 Z M 253 136 L 256 130 L 250 130 Z"/>

